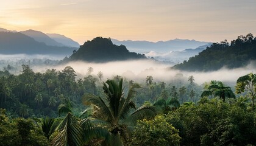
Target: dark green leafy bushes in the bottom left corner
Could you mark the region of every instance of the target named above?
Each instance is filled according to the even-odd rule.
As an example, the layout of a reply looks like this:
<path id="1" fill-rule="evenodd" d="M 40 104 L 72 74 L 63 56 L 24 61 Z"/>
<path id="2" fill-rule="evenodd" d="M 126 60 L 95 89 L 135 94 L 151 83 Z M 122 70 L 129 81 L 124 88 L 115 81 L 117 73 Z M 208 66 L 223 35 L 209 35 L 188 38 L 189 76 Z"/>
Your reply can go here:
<path id="1" fill-rule="evenodd" d="M 0 109 L 0 145 L 46 146 L 48 140 L 31 119 L 9 120 L 5 110 Z"/>

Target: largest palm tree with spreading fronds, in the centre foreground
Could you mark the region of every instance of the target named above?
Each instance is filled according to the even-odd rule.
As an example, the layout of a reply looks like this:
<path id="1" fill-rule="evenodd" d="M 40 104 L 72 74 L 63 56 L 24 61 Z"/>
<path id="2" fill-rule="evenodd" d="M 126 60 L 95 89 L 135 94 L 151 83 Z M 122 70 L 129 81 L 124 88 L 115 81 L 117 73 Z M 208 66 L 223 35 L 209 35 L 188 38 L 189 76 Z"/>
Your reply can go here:
<path id="1" fill-rule="evenodd" d="M 123 78 L 119 82 L 107 80 L 103 84 L 105 97 L 93 94 L 87 94 L 83 97 L 85 105 L 94 107 L 92 117 L 104 123 L 113 135 L 113 143 L 110 145 L 122 145 L 123 140 L 127 142 L 129 125 L 135 125 L 138 119 L 155 116 L 155 108 L 152 106 L 141 106 L 136 109 L 133 98 L 136 93 L 135 88 L 139 87 L 137 83 L 134 83 L 130 87 L 127 97 L 124 97 Z"/>

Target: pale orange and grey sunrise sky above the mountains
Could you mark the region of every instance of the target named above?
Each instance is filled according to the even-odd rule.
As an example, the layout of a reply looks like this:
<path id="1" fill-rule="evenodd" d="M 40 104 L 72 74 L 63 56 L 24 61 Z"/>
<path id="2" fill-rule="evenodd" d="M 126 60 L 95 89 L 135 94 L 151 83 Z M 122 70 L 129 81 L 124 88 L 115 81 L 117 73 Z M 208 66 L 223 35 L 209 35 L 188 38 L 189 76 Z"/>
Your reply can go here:
<path id="1" fill-rule="evenodd" d="M 175 38 L 220 42 L 256 35 L 255 0 L 0 0 L 0 27 L 59 33 L 79 44 Z"/>

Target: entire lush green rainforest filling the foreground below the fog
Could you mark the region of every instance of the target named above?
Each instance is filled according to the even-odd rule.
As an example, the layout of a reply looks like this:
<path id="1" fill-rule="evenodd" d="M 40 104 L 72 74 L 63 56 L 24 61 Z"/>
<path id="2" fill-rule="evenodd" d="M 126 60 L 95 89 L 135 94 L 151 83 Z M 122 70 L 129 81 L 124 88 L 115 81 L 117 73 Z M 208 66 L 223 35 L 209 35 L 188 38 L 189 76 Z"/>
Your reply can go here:
<path id="1" fill-rule="evenodd" d="M 0 71 L 0 145 L 256 145 L 256 74 L 197 85 L 88 68 Z"/>

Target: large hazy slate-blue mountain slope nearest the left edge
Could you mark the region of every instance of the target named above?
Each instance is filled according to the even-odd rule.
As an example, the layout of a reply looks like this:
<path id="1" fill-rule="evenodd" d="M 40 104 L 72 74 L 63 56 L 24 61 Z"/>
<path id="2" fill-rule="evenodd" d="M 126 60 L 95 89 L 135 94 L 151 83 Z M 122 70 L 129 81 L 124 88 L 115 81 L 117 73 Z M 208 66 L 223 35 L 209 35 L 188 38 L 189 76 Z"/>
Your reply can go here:
<path id="1" fill-rule="evenodd" d="M 74 47 L 47 46 L 20 32 L 0 32 L 0 54 L 72 54 Z"/>

